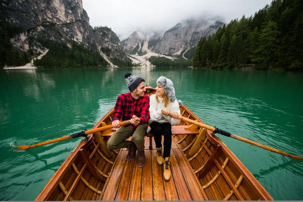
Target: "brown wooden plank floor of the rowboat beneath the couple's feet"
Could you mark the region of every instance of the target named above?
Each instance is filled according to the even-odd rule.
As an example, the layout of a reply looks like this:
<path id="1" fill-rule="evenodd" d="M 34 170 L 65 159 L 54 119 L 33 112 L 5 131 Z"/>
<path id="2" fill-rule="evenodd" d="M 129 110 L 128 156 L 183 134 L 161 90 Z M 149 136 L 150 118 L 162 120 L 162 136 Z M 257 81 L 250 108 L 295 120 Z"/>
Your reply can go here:
<path id="1" fill-rule="evenodd" d="M 170 181 L 163 179 L 163 166 L 156 160 L 157 150 L 149 150 L 145 137 L 145 165 L 137 166 L 136 158 L 126 161 L 127 150 L 118 156 L 101 200 L 205 200 L 205 192 L 189 167 L 188 160 L 173 140 Z"/>

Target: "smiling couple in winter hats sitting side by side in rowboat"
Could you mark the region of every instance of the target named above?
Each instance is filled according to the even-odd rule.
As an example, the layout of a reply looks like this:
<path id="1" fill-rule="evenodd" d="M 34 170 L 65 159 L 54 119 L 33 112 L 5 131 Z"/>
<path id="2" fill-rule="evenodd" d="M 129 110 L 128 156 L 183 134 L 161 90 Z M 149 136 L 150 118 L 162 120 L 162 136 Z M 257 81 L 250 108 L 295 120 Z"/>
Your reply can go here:
<path id="1" fill-rule="evenodd" d="M 138 167 L 145 164 L 144 135 L 149 124 L 157 148 L 157 162 L 164 164 L 163 176 L 166 181 L 171 177 L 170 149 L 172 144 L 172 125 L 180 123 L 179 104 L 175 97 L 173 82 L 161 76 L 157 80 L 156 94 L 148 97 L 145 92 L 144 79 L 139 76 L 126 73 L 124 75 L 130 92 L 120 94 L 115 105 L 112 118 L 114 128 L 119 128 L 108 140 L 109 149 L 128 148 L 127 161 L 131 161 L 137 154 Z M 173 116 L 168 114 L 172 112 Z M 149 119 L 150 118 L 150 119 Z M 121 127 L 120 120 L 130 120 L 131 125 Z M 162 155 L 162 134 L 164 135 L 164 153 Z M 132 136 L 132 140 L 127 139 Z"/>

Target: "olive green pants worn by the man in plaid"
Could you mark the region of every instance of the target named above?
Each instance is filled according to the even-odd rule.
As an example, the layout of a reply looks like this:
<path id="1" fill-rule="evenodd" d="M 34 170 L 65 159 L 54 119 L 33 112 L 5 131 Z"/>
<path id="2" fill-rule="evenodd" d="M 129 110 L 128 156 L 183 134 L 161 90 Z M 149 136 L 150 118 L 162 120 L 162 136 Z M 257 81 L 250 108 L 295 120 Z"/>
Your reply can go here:
<path id="1" fill-rule="evenodd" d="M 109 149 L 114 150 L 116 148 L 126 148 L 129 145 L 129 141 L 126 139 L 132 136 L 134 143 L 137 146 L 138 151 L 144 150 L 144 135 L 147 130 L 147 124 L 138 125 L 135 130 L 131 126 L 118 128 L 116 132 L 112 134 L 107 142 Z"/>

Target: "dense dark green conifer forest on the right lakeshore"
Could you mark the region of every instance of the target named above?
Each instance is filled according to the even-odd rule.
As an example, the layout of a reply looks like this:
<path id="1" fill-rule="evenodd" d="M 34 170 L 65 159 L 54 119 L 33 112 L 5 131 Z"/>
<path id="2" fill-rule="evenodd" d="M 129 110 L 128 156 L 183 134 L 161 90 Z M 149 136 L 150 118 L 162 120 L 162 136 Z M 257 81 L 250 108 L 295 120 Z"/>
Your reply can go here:
<path id="1" fill-rule="evenodd" d="M 303 69 L 303 1 L 274 0 L 197 44 L 193 67 Z"/>

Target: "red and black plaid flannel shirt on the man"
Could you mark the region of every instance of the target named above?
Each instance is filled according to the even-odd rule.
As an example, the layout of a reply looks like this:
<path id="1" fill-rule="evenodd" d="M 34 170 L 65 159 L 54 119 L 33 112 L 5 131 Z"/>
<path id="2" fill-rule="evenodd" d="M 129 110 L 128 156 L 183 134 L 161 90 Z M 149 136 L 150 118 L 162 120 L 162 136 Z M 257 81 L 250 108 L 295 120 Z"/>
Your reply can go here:
<path id="1" fill-rule="evenodd" d="M 113 121 L 126 121 L 136 115 L 140 119 L 140 124 L 148 122 L 149 119 L 149 97 L 145 94 L 144 97 L 135 99 L 130 92 L 120 94 L 115 105 Z M 122 119 L 121 119 L 122 118 Z M 131 125 L 132 129 L 137 126 Z"/>

